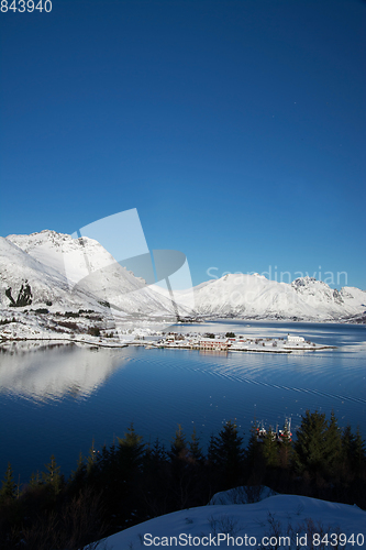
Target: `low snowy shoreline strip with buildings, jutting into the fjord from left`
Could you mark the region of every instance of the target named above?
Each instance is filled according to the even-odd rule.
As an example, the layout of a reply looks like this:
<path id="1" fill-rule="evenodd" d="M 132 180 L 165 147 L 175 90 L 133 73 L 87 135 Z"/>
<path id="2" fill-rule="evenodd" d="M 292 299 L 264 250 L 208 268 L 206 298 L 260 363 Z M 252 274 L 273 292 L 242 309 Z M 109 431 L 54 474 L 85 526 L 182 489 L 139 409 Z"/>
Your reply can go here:
<path id="1" fill-rule="evenodd" d="M 16 317 L 15 317 L 16 315 Z M 171 329 L 168 321 L 117 319 L 96 315 L 36 315 L 16 311 L 9 319 L 9 311 L 0 311 L 0 349 L 14 349 L 21 342 L 44 345 L 70 344 L 92 348 L 121 349 L 127 345 L 146 349 L 198 350 L 200 352 L 254 352 L 254 353 L 292 353 L 334 349 L 333 345 L 315 344 L 302 337 L 248 338 L 245 334 L 232 336 L 200 332 L 190 334 Z M 75 314 L 76 316 L 76 314 Z M 159 330 L 156 330 L 156 324 Z M 230 333 L 232 334 L 232 333 Z"/>

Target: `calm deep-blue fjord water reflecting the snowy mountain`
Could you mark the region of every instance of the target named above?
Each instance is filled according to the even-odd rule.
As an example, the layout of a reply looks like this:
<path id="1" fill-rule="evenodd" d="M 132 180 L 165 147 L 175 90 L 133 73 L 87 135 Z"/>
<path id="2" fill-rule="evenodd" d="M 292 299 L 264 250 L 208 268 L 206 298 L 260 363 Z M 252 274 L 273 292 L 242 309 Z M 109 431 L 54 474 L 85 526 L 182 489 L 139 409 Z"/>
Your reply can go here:
<path id="1" fill-rule="evenodd" d="M 25 483 L 55 454 L 68 475 L 79 452 L 123 436 L 131 422 L 144 440 L 169 444 L 178 424 L 206 444 L 236 419 L 246 433 L 256 418 L 292 431 L 307 409 L 340 426 L 359 426 L 366 438 L 366 327 L 225 321 L 177 326 L 180 332 L 300 334 L 335 350 L 291 354 L 90 349 L 60 345 L 0 354 L 0 475 L 11 462 Z"/>

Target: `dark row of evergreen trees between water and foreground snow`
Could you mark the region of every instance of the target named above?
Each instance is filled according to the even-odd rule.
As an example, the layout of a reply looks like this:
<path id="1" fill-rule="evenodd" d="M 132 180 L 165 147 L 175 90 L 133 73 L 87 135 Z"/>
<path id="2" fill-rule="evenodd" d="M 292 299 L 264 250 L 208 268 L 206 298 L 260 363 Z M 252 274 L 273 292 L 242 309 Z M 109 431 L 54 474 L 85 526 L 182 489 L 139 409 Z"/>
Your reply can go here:
<path id="1" fill-rule="evenodd" d="M 174 510 L 208 504 L 240 485 L 268 485 L 366 508 L 366 452 L 359 431 L 318 411 L 302 417 L 295 441 L 254 426 L 246 448 L 234 422 L 203 453 L 196 431 L 179 427 L 169 448 L 146 443 L 133 425 L 123 438 L 80 457 L 68 480 L 54 457 L 19 487 L 9 464 L 0 490 L 0 548 L 76 550 Z M 255 493 L 255 492 L 254 492 Z"/>

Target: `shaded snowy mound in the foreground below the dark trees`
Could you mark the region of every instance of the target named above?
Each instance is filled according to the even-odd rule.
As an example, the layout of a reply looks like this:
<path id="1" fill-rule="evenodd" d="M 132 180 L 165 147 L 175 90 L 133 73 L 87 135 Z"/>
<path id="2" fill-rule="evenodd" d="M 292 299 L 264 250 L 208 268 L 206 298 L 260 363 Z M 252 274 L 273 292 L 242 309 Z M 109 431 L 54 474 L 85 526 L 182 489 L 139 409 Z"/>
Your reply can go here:
<path id="1" fill-rule="evenodd" d="M 366 547 L 366 513 L 356 506 L 295 495 L 233 502 L 160 516 L 108 537 L 106 543 L 111 550 Z"/>

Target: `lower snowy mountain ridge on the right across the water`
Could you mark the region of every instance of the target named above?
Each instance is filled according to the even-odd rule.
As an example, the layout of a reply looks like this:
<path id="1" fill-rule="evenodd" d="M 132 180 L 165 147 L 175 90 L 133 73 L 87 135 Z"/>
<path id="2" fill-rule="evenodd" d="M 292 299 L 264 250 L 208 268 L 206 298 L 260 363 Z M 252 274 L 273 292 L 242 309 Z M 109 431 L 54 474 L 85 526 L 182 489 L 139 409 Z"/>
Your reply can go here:
<path id="1" fill-rule="evenodd" d="M 184 293 L 180 299 L 185 301 Z M 232 274 L 196 287 L 195 302 L 200 316 L 323 321 L 361 314 L 366 309 L 366 293 L 347 287 L 333 290 L 312 277 L 289 285 L 258 274 Z"/>

